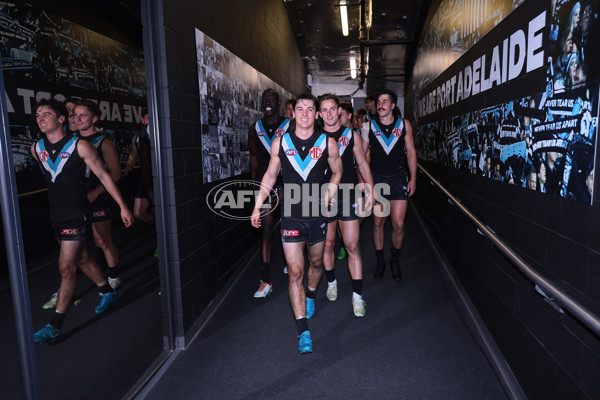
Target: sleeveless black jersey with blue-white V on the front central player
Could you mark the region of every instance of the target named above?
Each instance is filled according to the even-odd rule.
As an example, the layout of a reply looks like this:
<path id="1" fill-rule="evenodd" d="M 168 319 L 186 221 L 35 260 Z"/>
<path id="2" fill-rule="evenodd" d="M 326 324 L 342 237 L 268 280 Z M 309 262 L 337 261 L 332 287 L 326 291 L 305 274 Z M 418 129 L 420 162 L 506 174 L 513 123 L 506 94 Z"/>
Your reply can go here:
<path id="1" fill-rule="evenodd" d="M 286 185 L 295 184 L 302 190 L 301 201 L 295 204 L 289 202 L 289 215 L 285 212 L 288 199 L 284 199 L 284 212 L 281 218 L 296 221 L 312 221 L 320 218 L 321 185 L 327 182 L 325 170 L 329 165 L 327 135 L 316 130 L 310 138 L 302 140 L 294 132 L 288 132 L 281 137 L 278 151 L 284 189 Z M 316 207 L 316 212 L 311 211 L 308 215 L 302 215 L 302 202 L 307 199 L 311 199 L 311 204 L 318 201 L 319 206 Z"/>

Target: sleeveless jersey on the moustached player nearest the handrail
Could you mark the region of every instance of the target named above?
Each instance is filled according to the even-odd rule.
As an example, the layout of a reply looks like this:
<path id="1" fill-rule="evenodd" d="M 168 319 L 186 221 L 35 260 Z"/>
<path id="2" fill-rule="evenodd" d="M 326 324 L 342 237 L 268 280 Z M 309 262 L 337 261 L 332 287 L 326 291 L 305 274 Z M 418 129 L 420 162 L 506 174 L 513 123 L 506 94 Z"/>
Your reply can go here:
<path id="1" fill-rule="evenodd" d="M 402 118 L 395 118 L 390 125 L 369 122 L 369 147 L 371 148 L 371 172 L 379 176 L 397 176 L 406 171 L 406 128 Z"/>

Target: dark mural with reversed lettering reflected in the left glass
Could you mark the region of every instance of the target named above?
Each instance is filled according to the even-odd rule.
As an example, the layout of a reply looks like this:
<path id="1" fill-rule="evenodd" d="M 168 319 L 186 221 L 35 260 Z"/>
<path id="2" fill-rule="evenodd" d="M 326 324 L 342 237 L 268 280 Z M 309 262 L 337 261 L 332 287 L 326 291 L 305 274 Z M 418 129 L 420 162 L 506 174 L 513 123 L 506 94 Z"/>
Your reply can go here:
<path id="1" fill-rule="evenodd" d="M 0 55 L 19 192 L 45 187 L 30 146 L 42 98 L 98 101 L 122 163 L 145 106 L 143 53 L 26 3 L 0 2 Z"/>

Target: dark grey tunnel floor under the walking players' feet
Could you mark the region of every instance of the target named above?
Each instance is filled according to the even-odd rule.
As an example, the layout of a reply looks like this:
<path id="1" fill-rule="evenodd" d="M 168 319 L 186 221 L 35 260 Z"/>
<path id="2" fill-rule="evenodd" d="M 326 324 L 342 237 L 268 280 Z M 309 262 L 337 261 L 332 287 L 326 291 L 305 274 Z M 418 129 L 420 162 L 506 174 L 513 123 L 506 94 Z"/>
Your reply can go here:
<path id="1" fill-rule="evenodd" d="M 259 280 L 254 259 L 147 398 L 505 399 L 450 301 L 412 211 L 402 282 L 393 281 L 389 269 L 383 279 L 373 278 L 370 220 L 361 238 L 364 318 L 352 314 L 347 262 L 336 261 L 338 300 L 327 300 L 323 279 L 309 321 L 314 353 L 298 354 L 281 248 L 274 246 L 273 294 L 252 297 Z M 386 259 L 389 254 L 386 248 Z"/>

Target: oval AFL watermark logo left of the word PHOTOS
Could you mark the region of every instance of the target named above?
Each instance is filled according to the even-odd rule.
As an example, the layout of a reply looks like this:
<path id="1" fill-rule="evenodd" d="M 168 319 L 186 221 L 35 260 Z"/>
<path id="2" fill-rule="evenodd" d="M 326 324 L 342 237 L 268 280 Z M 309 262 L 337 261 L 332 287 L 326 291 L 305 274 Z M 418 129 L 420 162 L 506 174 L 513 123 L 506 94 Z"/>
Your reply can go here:
<path id="1" fill-rule="evenodd" d="M 271 188 L 261 189 L 260 183 L 250 180 L 224 182 L 215 186 L 206 195 L 206 205 L 215 214 L 233 220 L 250 220 L 254 199 L 261 193 L 266 199 L 260 208 L 260 216 L 273 212 L 279 197 Z"/>

